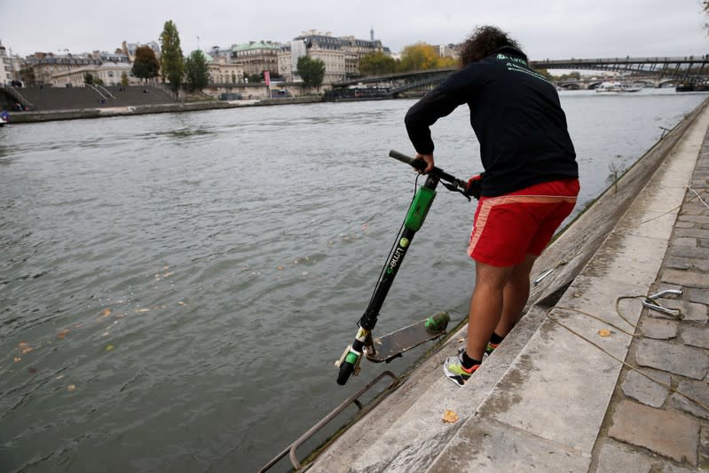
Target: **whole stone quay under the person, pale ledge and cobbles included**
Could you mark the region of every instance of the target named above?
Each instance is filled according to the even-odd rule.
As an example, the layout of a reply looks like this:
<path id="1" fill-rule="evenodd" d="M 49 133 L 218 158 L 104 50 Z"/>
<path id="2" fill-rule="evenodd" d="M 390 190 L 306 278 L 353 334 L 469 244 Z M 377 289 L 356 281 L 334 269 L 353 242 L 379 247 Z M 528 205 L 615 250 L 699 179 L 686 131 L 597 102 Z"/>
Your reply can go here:
<path id="1" fill-rule="evenodd" d="M 604 196 L 586 224 L 563 234 L 565 246 L 549 248 L 540 264 L 557 262 L 540 284 L 548 292 L 470 382 L 459 389 L 441 374 L 462 342 L 455 335 L 311 471 L 680 472 L 709 464 L 709 107 L 688 123 L 676 145 L 658 144 L 667 157 L 649 181 L 633 176 L 655 169 L 651 156 L 624 177 L 634 185 Z M 624 192 L 629 208 L 620 205 Z M 619 220 L 609 217 L 614 209 Z M 588 240 L 604 225 L 597 243 Z M 658 302 L 681 317 L 642 305 L 642 296 L 680 288 Z M 445 422 L 446 411 L 458 420 Z"/>

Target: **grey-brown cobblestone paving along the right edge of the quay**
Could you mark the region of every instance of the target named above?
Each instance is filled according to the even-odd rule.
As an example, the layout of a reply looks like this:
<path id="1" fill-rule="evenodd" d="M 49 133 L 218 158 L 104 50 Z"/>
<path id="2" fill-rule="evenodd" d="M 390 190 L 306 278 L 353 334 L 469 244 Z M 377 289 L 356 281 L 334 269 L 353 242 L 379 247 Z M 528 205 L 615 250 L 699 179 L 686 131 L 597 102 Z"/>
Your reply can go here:
<path id="1" fill-rule="evenodd" d="M 709 137 L 705 136 L 653 286 L 679 289 L 643 312 L 595 445 L 594 471 L 709 468 Z M 653 289 L 653 290 L 654 290 Z M 650 380 L 653 378 L 653 380 Z"/>

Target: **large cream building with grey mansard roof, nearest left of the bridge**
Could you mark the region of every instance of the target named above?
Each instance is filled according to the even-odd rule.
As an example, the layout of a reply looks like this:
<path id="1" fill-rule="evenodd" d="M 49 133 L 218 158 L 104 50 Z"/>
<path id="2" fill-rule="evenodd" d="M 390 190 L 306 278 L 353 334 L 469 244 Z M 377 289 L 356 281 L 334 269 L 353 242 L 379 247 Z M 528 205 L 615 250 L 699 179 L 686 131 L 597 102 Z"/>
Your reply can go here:
<path id="1" fill-rule="evenodd" d="M 374 31 L 370 32 L 374 38 Z M 354 36 L 335 37 L 332 33 L 304 31 L 281 48 L 278 70 L 286 81 L 298 80 L 298 59 L 308 56 L 325 63 L 324 84 L 337 83 L 359 75 L 359 59 L 372 52 L 387 52 L 388 48 L 375 39 L 356 39 Z"/>

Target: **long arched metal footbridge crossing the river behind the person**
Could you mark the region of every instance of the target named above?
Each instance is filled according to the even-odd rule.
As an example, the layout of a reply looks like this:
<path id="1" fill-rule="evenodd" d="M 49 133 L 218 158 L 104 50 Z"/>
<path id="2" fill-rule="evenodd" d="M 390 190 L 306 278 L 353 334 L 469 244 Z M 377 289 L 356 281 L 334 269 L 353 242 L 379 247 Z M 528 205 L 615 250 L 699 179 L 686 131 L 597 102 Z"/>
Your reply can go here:
<path id="1" fill-rule="evenodd" d="M 655 87 L 660 87 L 666 83 L 696 84 L 709 82 L 708 65 L 709 54 L 684 57 L 631 58 L 626 56 L 625 58 L 536 59 L 530 61 L 530 66 L 535 69 L 598 70 L 638 75 L 642 77 L 643 82 L 650 82 Z M 453 71 L 455 71 L 454 68 L 429 69 L 392 75 L 361 77 L 334 83 L 330 95 L 332 99 L 397 97 L 407 91 L 432 89 L 437 84 L 442 83 Z"/>

